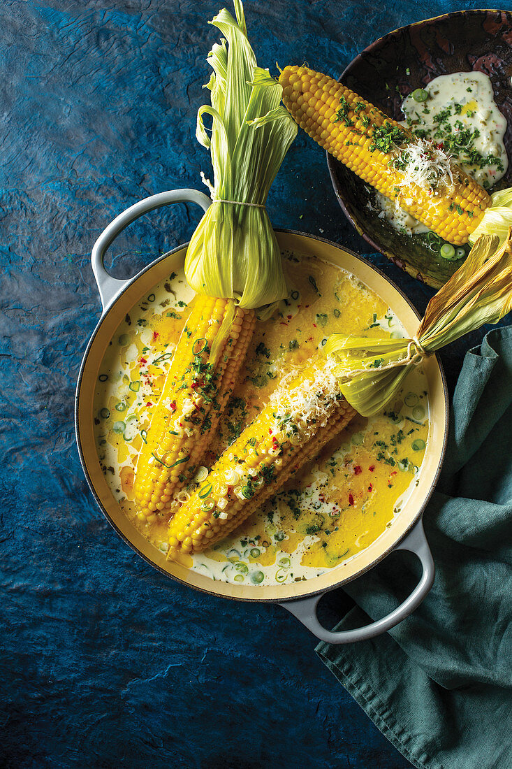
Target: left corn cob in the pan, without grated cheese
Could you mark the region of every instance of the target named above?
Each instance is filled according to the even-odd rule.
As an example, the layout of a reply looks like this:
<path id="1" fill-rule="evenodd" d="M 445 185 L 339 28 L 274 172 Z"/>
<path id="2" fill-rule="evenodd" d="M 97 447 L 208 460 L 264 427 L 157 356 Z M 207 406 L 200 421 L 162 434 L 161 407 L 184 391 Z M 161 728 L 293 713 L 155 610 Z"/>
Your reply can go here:
<path id="1" fill-rule="evenodd" d="M 224 319 L 231 321 L 228 335 L 221 330 Z M 255 321 L 254 310 L 234 308 L 231 299 L 196 298 L 138 456 L 134 490 L 141 518 L 152 521 L 158 512 L 168 511 L 175 492 L 190 480 L 188 468 L 201 461 L 208 434 L 217 426 L 244 361 Z M 219 332 L 220 349 L 212 361 Z"/>

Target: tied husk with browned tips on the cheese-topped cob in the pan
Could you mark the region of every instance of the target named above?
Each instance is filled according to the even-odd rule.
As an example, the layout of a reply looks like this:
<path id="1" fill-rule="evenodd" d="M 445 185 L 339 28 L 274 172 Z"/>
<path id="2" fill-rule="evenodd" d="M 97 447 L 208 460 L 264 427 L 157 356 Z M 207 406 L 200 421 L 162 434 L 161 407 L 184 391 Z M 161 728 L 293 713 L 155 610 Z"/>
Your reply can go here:
<path id="1" fill-rule="evenodd" d="M 332 334 L 323 350 L 338 361 L 347 401 L 363 416 L 381 411 L 397 394 L 411 367 L 512 309 L 512 229 L 502 245 L 482 235 L 464 264 L 431 298 L 412 339 Z"/>

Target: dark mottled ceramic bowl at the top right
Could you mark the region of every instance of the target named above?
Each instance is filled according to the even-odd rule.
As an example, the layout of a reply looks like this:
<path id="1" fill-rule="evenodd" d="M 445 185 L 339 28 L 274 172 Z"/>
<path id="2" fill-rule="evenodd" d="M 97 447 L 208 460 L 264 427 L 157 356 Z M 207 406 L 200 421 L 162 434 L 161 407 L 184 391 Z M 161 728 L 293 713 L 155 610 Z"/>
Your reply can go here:
<path id="1" fill-rule="evenodd" d="M 494 99 L 507 118 L 504 138 L 510 165 L 491 190 L 512 186 L 512 12 L 461 11 L 429 18 L 396 29 L 376 40 L 354 58 L 340 81 L 402 120 L 401 103 L 415 88 L 437 75 L 484 72 L 490 77 Z M 407 74 L 408 73 L 408 74 Z M 454 274 L 460 261 L 447 261 L 431 251 L 424 238 L 403 235 L 367 207 L 373 193 L 344 165 L 327 155 L 337 199 L 347 218 L 377 251 L 414 278 L 439 288 Z"/>

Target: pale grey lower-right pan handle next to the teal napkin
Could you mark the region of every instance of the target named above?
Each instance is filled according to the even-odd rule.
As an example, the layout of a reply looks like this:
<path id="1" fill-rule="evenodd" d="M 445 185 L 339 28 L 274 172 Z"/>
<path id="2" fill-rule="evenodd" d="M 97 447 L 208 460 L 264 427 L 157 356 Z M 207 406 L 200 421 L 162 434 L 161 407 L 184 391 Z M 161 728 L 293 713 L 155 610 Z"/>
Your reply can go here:
<path id="1" fill-rule="evenodd" d="M 417 555 L 421 561 L 423 571 L 421 580 L 411 595 L 400 606 L 391 611 L 390 614 L 387 614 L 386 617 L 371 622 L 371 624 L 365 625 L 364 628 L 336 632 L 324 628 L 317 618 L 318 602 L 324 593 L 314 595 L 312 598 L 301 598 L 299 601 L 287 601 L 282 603 L 281 606 L 288 609 L 291 614 L 294 614 L 320 641 L 327 641 L 328 644 L 351 644 L 353 641 L 367 641 L 368 638 L 374 638 L 376 635 L 394 628 L 395 625 L 417 609 L 428 591 L 430 591 L 432 584 L 434 584 L 434 559 L 428 547 L 421 518 L 413 530 L 407 534 L 407 537 L 400 544 L 397 544 L 397 547 L 394 549 L 408 550 Z"/>

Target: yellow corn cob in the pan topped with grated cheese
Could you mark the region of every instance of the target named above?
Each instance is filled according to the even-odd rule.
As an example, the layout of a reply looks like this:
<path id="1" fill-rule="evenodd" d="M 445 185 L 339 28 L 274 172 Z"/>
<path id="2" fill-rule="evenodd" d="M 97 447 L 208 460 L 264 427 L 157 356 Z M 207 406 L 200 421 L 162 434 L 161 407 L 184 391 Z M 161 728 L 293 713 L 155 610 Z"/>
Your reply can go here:
<path id="1" fill-rule="evenodd" d="M 355 413 L 341 396 L 332 358 L 285 377 L 171 519 L 168 558 L 202 551 L 237 528 Z"/>

